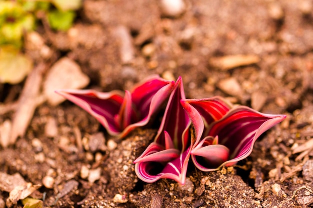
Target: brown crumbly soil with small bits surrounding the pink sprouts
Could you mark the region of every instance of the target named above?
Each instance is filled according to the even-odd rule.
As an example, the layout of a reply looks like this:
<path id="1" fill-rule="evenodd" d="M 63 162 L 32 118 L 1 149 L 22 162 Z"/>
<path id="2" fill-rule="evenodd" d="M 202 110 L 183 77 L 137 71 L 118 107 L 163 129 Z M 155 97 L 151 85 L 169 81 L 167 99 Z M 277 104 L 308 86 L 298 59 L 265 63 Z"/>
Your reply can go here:
<path id="1" fill-rule="evenodd" d="M 25 134 L 0 147 L 0 172 L 40 185 L 31 197 L 44 207 L 313 207 L 313 1 L 184 2 L 181 12 L 169 15 L 158 0 L 84 0 L 67 32 L 38 26 L 52 55 L 38 55 L 27 44 L 25 53 L 47 71 L 62 57 L 75 61 L 90 79 L 86 89 L 129 90 L 151 74 L 181 76 L 187 98 L 220 95 L 286 114 L 248 158 L 208 173 L 190 164 L 184 186 L 167 179 L 146 184 L 132 161 L 156 129 L 120 140 L 68 101 L 38 102 Z M 244 55 L 236 56 L 240 63 L 227 66 L 229 55 L 238 54 Z M 26 83 L 0 85 L 7 107 Z M 8 109 L 0 111 L 1 124 L 13 120 L 16 109 Z M 1 208 L 8 197 L 0 190 Z"/>

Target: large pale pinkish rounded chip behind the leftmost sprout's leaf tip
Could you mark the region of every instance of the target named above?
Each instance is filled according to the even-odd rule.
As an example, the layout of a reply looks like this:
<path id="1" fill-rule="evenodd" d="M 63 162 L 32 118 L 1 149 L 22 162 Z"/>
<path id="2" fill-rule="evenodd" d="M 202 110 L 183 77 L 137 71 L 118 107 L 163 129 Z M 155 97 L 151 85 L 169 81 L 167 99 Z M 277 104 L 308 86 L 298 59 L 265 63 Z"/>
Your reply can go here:
<path id="1" fill-rule="evenodd" d="M 89 78 L 83 74 L 79 65 L 70 58 L 59 59 L 47 72 L 43 82 L 43 94 L 47 101 L 55 106 L 65 98 L 56 94 L 57 89 L 80 89 L 89 83 Z"/>

